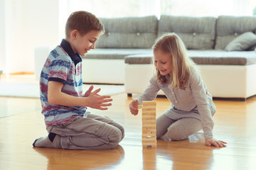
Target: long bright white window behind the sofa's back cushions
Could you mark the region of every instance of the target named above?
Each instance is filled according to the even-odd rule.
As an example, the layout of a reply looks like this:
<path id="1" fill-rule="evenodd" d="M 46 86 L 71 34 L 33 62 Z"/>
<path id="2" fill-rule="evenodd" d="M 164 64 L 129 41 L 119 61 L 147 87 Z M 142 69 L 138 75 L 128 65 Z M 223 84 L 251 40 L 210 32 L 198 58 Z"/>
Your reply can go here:
<path id="1" fill-rule="evenodd" d="M 59 0 L 59 37 L 64 37 L 65 22 L 73 11 L 90 11 L 97 17 L 125 16 L 252 16 L 255 0 Z"/>

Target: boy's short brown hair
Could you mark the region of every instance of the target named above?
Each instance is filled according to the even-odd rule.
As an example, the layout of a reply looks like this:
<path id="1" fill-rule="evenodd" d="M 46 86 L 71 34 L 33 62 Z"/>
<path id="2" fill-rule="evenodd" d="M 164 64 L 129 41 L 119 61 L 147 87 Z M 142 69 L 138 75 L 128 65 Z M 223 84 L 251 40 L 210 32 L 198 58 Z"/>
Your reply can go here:
<path id="1" fill-rule="evenodd" d="M 67 38 L 70 38 L 70 32 L 73 30 L 78 30 L 81 36 L 90 32 L 90 30 L 105 32 L 100 19 L 87 11 L 76 11 L 70 14 L 65 25 L 65 35 Z"/>

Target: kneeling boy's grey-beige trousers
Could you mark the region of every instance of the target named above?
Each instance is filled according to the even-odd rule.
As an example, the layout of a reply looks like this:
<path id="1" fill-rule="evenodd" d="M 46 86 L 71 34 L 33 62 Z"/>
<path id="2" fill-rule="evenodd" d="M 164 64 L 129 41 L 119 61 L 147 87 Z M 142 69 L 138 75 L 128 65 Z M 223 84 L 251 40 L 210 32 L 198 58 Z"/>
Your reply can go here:
<path id="1" fill-rule="evenodd" d="M 62 149 L 112 149 L 124 138 L 124 128 L 114 120 L 89 113 L 62 125 L 46 126 L 57 134 L 53 140 Z"/>

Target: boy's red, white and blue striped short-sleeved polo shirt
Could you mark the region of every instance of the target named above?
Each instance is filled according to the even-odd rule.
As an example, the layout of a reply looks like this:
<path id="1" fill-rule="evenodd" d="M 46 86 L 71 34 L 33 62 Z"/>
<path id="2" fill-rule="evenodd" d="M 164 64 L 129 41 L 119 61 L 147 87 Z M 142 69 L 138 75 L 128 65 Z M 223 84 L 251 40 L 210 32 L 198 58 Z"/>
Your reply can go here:
<path id="1" fill-rule="evenodd" d="M 46 125 L 60 125 L 72 120 L 75 116 L 83 116 L 86 107 L 59 106 L 48 102 L 48 82 L 63 83 L 62 92 L 71 96 L 82 97 L 82 59 L 75 54 L 70 44 L 63 40 L 50 52 L 43 66 L 40 79 L 40 97 L 42 114 Z"/>

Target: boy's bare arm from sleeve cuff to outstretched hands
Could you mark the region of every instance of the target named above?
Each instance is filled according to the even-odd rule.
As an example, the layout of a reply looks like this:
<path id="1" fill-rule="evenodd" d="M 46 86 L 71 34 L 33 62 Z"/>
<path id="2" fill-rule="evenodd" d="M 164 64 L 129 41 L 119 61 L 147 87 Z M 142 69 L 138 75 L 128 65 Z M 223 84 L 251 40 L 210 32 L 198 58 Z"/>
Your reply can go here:
<path id="1" fill-rule="evenodd" d="M 107 106 L 111 106 L 109 103 L 112 101 L 110 96 L 100 96 L 97 93 L 100 89 L 92 91 L 87 97 L 76 97 L 65 94 L 61 91 L 63 83 L 58 81 L 48 82 L 48 102 L 55 105 L 62 106 L 87 106 L 90 108 L 97 108 L 100 110 L 107 110 Z"/>

